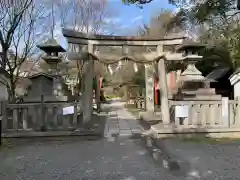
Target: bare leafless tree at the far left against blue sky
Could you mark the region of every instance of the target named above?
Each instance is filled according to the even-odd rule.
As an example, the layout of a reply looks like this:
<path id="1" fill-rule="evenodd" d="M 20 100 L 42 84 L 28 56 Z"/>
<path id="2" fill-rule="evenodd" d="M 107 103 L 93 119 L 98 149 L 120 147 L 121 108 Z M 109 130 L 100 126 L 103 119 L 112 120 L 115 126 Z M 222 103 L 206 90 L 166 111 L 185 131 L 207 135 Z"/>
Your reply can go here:
<path id="1" fill-rule="evenodd" d="M 21 65 L 36 53 L 36 43 L 41 39 L 39 37 L 43 37 L 39 34 L 39 24 L 44 11 L 33 0 L 19 0 L 12 4 L 2 1 L 0 7 L 0 64 L 9 74 L 6 86 L 10 100 L 14 101 Z"/>

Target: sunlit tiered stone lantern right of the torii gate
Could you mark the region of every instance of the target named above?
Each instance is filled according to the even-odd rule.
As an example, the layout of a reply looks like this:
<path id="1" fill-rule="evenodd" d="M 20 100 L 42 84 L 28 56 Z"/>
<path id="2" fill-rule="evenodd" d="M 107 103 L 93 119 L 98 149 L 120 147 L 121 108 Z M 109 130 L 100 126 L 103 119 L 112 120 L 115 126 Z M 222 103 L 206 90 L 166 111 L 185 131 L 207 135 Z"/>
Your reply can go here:
<path id="1" fill-rule="evenodd" d="M 195 66 L 195 64 L 203 58 L 199 55 L 199 51 L 204 47 L 205 45 L 196 42 L 184 42 L 177 48 L 177 52 L 182 52 L 183 54 L 183 63 L 187 65 L 187 68 L 181 73 L 179 79 L 180 91 L 178 91 L 177 99 L 221 99 L 221 96 L 215 95 L 215 89 L 210 88 L 210 82 L 212 80 L 205 78 Z"/>

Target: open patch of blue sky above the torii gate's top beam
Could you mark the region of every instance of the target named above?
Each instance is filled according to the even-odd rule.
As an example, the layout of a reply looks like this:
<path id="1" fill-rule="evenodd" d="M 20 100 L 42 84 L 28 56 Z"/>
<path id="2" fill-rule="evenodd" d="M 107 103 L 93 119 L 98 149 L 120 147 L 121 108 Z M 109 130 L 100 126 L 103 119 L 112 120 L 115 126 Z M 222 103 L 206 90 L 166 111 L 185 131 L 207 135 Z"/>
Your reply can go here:
<path id="1" fill-rule="evenodd" d="M 116 35 L 133 35 L 136 29 L 143 24 L 148 24 L 151 17 L 157 15 L 161 9 L 172 9 L 175 7 L 168 4 L 168 0 L 153 0 L 145 4 L 143 9 L 136 5 L 124 5 L 121 0 L 108 0 L 111 16 L 106 19 L 114 24 Z M 61 34 L 56 33 L 58 42 L 67 48 L 67 42 Z"/>

